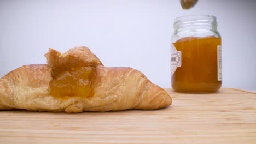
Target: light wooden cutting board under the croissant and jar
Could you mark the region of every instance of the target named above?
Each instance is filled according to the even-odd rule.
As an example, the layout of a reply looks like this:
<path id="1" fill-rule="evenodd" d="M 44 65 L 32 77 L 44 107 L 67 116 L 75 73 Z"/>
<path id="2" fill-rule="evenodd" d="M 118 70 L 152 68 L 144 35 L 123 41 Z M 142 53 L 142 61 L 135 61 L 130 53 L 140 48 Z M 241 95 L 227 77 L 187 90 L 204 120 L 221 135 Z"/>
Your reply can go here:
<path id="1" fill-rule="evenodd" d="M 0 143 L 256 143 L 255 93 L 166 91 L 173 104 L 155 111 L 0 111 Z"/>

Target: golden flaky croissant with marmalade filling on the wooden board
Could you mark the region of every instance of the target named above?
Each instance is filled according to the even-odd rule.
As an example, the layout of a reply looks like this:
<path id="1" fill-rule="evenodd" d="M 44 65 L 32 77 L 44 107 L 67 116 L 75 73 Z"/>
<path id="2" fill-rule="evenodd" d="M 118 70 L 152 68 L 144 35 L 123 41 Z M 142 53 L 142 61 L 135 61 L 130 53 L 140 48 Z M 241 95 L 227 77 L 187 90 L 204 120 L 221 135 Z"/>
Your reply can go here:
<path id="1" fill-rule="evenodd" d="M 24 65 L 0 79 L 0 110 L 154 110 L 171 105 L 170 95 L 140 71 L 104 67 L 87 48 L 49 49 L 48 64 Z"/>

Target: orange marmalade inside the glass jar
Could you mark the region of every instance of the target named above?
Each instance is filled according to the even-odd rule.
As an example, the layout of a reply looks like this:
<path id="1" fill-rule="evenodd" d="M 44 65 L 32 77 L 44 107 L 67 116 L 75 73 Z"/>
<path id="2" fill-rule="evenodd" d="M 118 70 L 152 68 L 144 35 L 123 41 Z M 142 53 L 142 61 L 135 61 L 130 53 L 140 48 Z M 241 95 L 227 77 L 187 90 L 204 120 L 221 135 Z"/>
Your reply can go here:
<path id="1" fill-rule="evenodd" d="M 172 75 L 172 88 L 178 92 L 215 92 L 218 81 L 217 46 L 215 37 L 186 37 L 173 43 L 182 52 L 182 65 Z"/>

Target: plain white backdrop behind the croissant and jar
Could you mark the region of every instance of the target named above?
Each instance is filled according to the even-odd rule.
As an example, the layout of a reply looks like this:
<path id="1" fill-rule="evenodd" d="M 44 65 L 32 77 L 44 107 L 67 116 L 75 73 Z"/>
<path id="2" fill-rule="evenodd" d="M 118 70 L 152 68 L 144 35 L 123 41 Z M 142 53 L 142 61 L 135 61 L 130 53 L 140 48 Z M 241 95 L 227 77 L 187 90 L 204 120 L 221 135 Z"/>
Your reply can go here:
<path id="1" fill-rule="evenodd" d="M 217 16 L 223 87 L 256 89 L 256 1 L 179 0 L 2 1 L 0 77 L 25 64 L 46 63 L 48 48 L 88 46 L 108 67 L 128 66 L 170 88 L 170 43 L 178 16 Z"/>

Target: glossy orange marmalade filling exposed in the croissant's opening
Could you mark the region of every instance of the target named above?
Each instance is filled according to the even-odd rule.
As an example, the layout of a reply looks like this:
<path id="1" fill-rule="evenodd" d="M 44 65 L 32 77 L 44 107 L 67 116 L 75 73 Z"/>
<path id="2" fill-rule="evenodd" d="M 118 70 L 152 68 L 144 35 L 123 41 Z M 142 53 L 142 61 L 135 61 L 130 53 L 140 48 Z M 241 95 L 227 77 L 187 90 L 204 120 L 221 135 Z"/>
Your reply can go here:
<path id="1" fill-rule="evenodd" d="M 78 67 L 61 71 L 49 84 L 49 94 L 54 97 L 91 97 L 95 68 Z"/>

